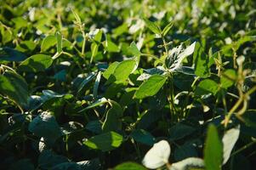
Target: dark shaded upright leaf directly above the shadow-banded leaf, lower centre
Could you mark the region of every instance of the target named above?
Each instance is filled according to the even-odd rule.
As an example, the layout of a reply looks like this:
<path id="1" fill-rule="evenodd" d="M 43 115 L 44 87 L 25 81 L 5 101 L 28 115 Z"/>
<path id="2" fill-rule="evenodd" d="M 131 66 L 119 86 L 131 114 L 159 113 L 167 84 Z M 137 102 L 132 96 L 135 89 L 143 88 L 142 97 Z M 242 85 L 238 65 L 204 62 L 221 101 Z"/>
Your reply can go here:
<path id="1" fill-rule="evenodd" d="M 105 122 L 103 122 L 103 132 L 122 130 L 122 107 L 117 102 L 111 101 L 111 109 L 107 111 Z"/>

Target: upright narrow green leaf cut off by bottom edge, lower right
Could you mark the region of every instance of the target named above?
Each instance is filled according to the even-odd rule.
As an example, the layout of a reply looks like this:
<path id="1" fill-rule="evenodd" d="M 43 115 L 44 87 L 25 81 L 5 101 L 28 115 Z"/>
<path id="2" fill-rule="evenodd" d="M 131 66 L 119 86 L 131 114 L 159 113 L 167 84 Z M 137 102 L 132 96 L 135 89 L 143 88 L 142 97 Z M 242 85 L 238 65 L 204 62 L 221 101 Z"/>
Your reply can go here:
<path id="1" fill-rule="evenodd" d="M 204 161 L 207 170 L 220 170 L 222 164 L 222 143 L 217 128 L 210 124 L 204 147 Z"/>

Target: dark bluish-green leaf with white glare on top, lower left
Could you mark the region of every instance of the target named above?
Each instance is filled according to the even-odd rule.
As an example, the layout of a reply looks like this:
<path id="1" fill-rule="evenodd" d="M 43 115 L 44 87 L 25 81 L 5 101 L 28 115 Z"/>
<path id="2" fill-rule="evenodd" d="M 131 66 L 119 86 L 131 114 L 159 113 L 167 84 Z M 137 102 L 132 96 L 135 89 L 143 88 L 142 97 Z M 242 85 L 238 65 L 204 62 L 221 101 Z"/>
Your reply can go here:
<path id="1" fill-rule="evenodd" d="M 37 137 L 43 137 L 44 141 L 49 145 L 54 144 L 55 140 L 61 136 L 58 123 L 48 111 L 44 111 L 34 118 L 28 129 Z"/>

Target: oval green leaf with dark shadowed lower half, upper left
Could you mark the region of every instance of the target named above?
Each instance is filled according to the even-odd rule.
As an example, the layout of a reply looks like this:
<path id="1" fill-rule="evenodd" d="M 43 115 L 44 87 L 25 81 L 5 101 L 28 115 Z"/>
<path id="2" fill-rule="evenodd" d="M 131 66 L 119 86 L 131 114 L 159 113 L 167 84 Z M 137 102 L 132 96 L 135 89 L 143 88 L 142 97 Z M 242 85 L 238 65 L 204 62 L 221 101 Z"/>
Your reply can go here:
<path id="1" fill-rule="evenodd" d="M 21 62 L 18 69 L 27 72 L 45 71 L 53 64 L 53 61 L 49 55 L 35 54 Z"/>

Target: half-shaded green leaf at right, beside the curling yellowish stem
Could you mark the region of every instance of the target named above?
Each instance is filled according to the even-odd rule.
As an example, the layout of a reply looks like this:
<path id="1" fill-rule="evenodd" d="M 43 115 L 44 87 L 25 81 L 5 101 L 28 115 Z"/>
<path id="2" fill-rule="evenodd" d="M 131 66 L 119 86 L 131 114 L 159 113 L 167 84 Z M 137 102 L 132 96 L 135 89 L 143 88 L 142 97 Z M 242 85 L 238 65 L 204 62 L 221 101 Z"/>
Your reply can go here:
<path id="1" fill-rule="evenodd" d="M 217 82 L 214 82 L 211 79 L 205 79 L 202 82 L 199 82 L 199 84 L 196 87 L 195 95 L 204 95 L 204 94 L 217 94 L 219 90 L 219 85 Z"/>

